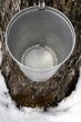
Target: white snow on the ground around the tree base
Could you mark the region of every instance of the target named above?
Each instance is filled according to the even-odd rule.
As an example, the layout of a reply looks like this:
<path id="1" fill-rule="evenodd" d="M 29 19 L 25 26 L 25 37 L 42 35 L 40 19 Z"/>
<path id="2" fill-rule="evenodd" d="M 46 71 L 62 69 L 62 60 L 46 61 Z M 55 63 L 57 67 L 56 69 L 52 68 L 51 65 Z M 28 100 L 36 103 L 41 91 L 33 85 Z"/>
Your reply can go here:
<path id="1" fill-rule="evenodd" d="M 0 59 L 2 54 L 0 52 Z M 1 63 L 1 60 L 0 60 Z M 57 108 L 43 109 L 16 106 L 0 72 L 0 122 L 81 122 L 81 69 L 75 90 Z"/>

